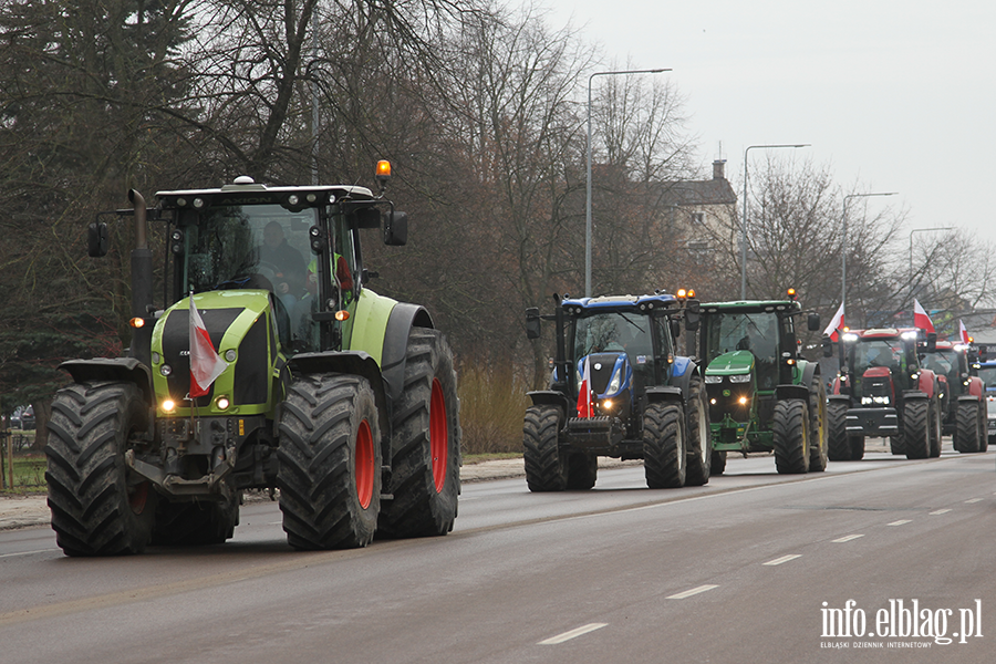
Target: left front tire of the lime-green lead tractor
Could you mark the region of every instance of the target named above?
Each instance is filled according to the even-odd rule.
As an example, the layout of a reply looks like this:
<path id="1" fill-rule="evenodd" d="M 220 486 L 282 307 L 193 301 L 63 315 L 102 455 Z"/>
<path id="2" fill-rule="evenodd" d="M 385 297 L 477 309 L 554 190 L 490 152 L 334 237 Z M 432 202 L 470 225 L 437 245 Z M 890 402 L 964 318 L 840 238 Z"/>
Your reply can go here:
<path id="1" fill-rule="evenodd" d="M 131 383 L 77 383 L 52 402 L 45 446 L 55 542 L 66 556 L 145 550 L 156 492 L 125 453 L 147 430 L 148 407 Z"/>

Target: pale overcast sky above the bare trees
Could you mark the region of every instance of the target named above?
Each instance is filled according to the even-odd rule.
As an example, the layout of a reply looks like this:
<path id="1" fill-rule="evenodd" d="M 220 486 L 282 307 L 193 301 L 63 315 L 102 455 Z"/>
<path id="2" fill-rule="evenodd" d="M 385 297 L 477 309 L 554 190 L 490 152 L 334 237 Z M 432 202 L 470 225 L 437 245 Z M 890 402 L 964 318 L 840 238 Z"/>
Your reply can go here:
<path id="1" fill-rule="evenodd" d="M 798 152 L 844 188 L 898 191 L 868 205 L 904 208 L 907 236 L 956 226 L 996 243 L 996 2 L 537 1 L 606 64 L 672 68 L 657 75 L 687 97 L 702 163 L 722 144 L 738 190 L 747 146 L 810 143 Z"/>

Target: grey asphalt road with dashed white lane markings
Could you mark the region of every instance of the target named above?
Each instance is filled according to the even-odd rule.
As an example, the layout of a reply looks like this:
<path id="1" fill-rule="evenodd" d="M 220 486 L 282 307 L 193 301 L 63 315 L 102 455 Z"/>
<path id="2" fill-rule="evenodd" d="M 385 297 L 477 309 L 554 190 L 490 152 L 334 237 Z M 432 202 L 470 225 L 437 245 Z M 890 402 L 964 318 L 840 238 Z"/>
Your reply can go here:
<path id="1" fill-rule="evenodd" d="M 0 662 L 989 663 L 994 457 L 468 484 L 449 536 L 354 551 L 292 551 L 273 504 L 224 546 L 132 558 L 0 532 Z"/>

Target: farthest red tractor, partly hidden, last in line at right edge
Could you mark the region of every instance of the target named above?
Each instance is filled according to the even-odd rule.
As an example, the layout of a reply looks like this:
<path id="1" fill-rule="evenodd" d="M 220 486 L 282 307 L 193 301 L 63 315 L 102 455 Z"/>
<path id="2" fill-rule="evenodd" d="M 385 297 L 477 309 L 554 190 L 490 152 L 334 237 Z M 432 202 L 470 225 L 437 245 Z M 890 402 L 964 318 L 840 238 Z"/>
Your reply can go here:
<path id="1" fill-rule="evenodd" d="M 971 347 L 951 341 L 938 341 L 933 351 L 924 354 L 925 367 L 937 374 L 941 383 L 941 412 L 944 414 L 943 432 L 952 437 L 954 448 L 963 454 L 985 452 L 986 386 L 969 362 Z"/>

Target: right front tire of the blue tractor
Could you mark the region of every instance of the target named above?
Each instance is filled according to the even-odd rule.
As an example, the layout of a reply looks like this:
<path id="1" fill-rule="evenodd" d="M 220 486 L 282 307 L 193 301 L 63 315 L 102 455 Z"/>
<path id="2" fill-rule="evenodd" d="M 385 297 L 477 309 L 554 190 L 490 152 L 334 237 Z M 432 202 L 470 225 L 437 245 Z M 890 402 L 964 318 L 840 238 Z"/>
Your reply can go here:
<path id="1" fill-rule="evenodd" d="M 684 413 L 679 404 L 650 404 L 643 413 L 643 469 L 652 489 L 685 486 Z"/>

